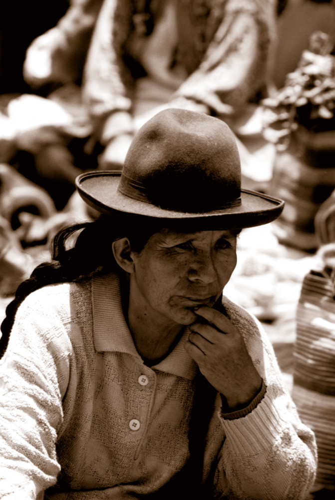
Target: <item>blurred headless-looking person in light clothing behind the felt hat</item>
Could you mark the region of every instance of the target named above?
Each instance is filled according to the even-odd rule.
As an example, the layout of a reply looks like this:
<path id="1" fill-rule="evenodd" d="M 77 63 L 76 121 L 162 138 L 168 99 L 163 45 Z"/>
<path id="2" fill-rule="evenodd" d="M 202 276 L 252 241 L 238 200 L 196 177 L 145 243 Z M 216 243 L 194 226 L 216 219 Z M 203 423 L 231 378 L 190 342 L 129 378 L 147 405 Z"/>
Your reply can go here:
<path id="1" fill-rule="evenodd" d="M 273 0 L 104 0 L 82 86 L 100 168 L 122 168 L 136 130 L 167 107 L 235 130 L 266 92 L 277 9 Z"/>

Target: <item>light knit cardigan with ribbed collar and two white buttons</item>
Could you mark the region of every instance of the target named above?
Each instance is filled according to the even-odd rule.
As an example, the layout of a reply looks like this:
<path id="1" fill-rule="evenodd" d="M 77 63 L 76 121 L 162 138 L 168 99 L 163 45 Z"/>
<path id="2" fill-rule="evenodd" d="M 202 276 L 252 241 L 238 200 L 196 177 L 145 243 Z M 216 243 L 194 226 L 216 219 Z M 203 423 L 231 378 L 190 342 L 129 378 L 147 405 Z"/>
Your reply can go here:
<path id="1" fill-rule="evenodd" d="M 240 418 L 221 413 L 217 394 L 193 480 L 209 482 L 208 498 L 303 500 L 315 476 L 314 434 L 259 322 L 226 297 L 223 304 L 266 391 Z M 183 474 L 197 372 L 187 337 L 146 366 L 115 274 L 28 295 L 0 362 L 0 497 L 142 498 Z"/>

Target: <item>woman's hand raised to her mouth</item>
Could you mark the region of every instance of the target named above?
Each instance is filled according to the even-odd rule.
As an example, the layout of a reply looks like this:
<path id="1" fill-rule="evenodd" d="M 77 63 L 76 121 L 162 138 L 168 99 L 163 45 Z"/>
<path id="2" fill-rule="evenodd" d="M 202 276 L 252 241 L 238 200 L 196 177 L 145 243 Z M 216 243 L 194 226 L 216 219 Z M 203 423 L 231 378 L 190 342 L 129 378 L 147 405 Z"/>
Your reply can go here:
<path id="1" fill-rule="evenodd" d="M 231 410 L 248 406 L 259 392 L 262 377 L 256 370 L 244 339 L 233 323 L 216 309 L 201 306 L 199 320 L 189 325 L 188 354 Z"/>

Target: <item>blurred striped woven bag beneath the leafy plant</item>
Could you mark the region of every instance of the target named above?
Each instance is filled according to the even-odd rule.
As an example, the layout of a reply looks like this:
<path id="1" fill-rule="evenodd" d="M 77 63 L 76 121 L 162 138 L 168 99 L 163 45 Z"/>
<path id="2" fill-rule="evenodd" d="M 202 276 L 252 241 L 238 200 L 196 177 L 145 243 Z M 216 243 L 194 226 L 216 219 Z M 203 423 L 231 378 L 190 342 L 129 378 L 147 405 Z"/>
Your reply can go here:
<path id="1" fill-rule="evenodd" d="M 334 130 L 315 133 L 298 126 L 288 147 L 277 151 L 269 193 L 285 201 L 281 216 L 273 223 L 280 242 L 311 250 L 318 247 L 318 238 L 323 242 L 327 238 L 319 233 L 320 228 L 329 233 L 334 222 L 334 210 L 329 213 L 329 204 L 323 205 L 335 189 L 334 147 Z"/>

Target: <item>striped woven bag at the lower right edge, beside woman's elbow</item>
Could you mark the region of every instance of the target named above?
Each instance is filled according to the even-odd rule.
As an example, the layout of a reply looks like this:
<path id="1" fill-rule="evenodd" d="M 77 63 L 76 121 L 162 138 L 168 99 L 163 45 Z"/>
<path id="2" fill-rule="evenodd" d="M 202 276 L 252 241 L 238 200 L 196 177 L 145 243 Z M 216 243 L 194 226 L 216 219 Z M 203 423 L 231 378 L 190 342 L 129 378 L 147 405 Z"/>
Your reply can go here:
<path id="1" fill-rule="evenodd" d="M 330 270 L 311 270 L 297 308 L 292 397 L 318 444 L 318 487 L 335 484 L 335 299 Z"/>

